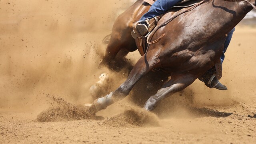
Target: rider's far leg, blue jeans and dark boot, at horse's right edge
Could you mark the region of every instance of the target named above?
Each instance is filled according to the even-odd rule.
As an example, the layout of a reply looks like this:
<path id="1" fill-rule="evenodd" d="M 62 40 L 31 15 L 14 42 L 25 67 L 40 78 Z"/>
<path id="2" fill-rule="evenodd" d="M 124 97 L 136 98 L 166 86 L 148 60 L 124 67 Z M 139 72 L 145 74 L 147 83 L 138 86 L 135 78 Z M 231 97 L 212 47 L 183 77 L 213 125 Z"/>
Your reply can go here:
<path id="1" fill-rule="evenodd" d="M 223 50 L 223 53 L 220 57 L 220 60 L 221 60 L 221 63 L 223 62 L 224 58 L 225 58 L 225 55 L 224 53 L 226 52 L 229 44 L 230 44 L 230 41 L 231 41 L 231 38 L 232 38 L 232 35 L 233 35 L 233 32 L 235 31 L 235 28 L 233 28 L 233 30 L 231 30 L 229 33 L 228 33 L 228 36 L 225 40 L 225 43 L 224 43 L 224 50 Z M 211 68 L 210 70 L 208 70 L 203 76 L 200 76 L 199 77 L 199 80 L 201 80 L 202 82 L 204 83 L 207 83 L 210 78 L 212 77 L 212 75 L 216 73 L 216 70 L 215 70 L 215 67 Z M 207 86 L 207 85 L 206 85 Z M 209 86 L 208 86 L 209 87 Z M 228 88 L 226 86 L 224 86 L 223 84 L 221 84 L 219 82 L 219 80 L 216 78 L 216 76 L 212 79 L 212 82 L 211 82 L 211 86 L 210 88 L 216 88 L 218 90 L 227 90 Z"/>

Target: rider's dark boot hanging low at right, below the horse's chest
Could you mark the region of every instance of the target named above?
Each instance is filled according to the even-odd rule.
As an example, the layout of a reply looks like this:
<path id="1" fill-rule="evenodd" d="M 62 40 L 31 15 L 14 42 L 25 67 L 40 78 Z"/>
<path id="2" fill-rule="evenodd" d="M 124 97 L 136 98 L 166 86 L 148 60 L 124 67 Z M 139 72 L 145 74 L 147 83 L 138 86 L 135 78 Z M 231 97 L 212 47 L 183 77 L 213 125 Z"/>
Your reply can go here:
<path id="1" fill-rule="evenodd" d="M 198 79 L 204 82 L 204 84 L 209 88 L 216 88 L 218 90 L 228 90 L 228 88 L 221 84 L 219 80 L 216 78 L 216 69 L 214 67 L 208 70 Z"/>

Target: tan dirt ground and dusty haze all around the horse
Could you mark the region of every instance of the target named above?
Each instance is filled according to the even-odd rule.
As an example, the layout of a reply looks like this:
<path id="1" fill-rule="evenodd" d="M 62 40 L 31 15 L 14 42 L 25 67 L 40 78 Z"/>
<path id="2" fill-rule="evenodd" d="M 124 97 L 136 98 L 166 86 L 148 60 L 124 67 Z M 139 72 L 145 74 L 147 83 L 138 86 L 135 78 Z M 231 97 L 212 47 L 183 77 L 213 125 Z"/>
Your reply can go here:
<path id="1" fill-rule="evenodd" d="M 0 143 L 256 143 L 256 27 L 239 25 L 226 52 L 228 90 L 196 80 L 143 111 L 128 96 L 91 118 L 89 88 L 115 18 L 130 1 L 0 0 Z M 132 63 L 138 51 L 128 54 Z M 148 84 L 143 84 L 145 88 Z M 147 95 L 147 90 L 144 94 Z M 132 92 L 133 93 L 133 92 Z M 132 95 L 132 94 L 131 94 Z M 137 103 L 136 103 L 137 102 Z"/>

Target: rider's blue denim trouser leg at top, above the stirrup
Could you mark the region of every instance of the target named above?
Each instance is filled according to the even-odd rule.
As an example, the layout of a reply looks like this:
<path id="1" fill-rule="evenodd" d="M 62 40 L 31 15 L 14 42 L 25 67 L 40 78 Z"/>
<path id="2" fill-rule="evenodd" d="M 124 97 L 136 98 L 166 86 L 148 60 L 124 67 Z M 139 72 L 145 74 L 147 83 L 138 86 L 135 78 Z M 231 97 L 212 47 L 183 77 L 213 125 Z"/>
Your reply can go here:
<path id="1" fill-rule="evenodd" d="M 146 20 L 146 18 L 154 18 L 160 16 L 169 10 L 172 6 L 180 2 L 181 0 L 156 0 L 140 20 Z"/>

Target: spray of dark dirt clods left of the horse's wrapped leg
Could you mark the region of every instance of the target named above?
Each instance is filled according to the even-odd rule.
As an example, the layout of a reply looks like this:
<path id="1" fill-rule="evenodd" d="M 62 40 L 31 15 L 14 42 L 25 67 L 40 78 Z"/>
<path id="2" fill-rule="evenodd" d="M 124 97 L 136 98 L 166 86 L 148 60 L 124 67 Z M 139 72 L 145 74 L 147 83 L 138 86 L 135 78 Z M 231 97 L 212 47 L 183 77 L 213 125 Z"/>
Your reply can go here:
<path id="1" fill-rule="evenodd" d="M 86 106 L 76 106 L 64 100 L 63 98 L 56 98 L 55 96 L 47 95 L 58 106 L 54 106 L 44 110 L 37 116 L 39 122 L 57 122 L 63 120 L 82 120 L 82 119 L 100 119 L 88 112 Z"/>

